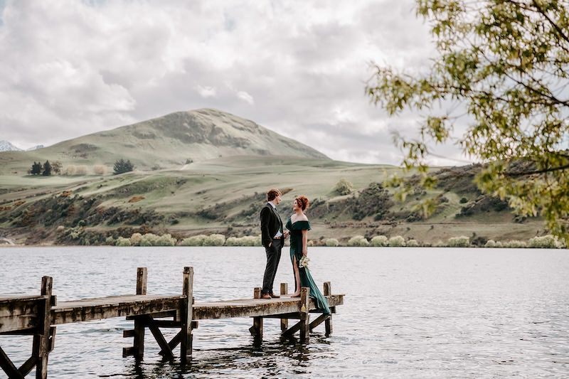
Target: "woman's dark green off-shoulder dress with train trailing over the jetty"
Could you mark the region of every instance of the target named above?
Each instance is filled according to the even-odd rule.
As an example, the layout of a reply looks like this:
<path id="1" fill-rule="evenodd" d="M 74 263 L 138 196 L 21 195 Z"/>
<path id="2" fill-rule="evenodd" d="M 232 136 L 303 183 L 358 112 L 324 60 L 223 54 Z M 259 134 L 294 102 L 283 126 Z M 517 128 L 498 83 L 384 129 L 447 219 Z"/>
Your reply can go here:
<path id="1" fill-rule="evenodd" d="M 300 258 L 302 258 L 302 230 L 310 230 L 310 223 L 309 221 L 296 221 L 292 223 L 290 218 L 287 220 L 286 228 L 290 230 L 290 260 L 294 265 L 293 257 L 297 258 L 297 265 L 300 262 Z M 312 275 L 308 268 L 299 267 L 299 274 L 300 274 L 300 287 L 309 287 L 310 288 L 310 297 L 314 299 L 314 303 L 317 306 L 317 311 L 322 312 L 323 314 L 330 314 L 330 308 L 328 306 L 328 301 L 322 293 L 318 289 L 316 283 L 314 283 L 314 279 L 312 279 Z M 297 287 L 296 283 L 297 279 L 294 278 L 294 288 Z"/>

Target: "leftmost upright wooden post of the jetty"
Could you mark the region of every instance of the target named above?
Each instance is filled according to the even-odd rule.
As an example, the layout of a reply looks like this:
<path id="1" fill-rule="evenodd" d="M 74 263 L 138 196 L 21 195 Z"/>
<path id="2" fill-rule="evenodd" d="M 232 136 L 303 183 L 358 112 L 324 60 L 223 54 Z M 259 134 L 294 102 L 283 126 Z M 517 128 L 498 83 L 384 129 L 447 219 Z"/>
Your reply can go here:
<path id="1" fill-rule="evenodd" d="M 53 348 L 53 342 L 50 341 L 50 332 L 55 338 L 55 328 L 51 328 L 51 306 L 55 303 L 55 298 L 51 297 L 53 290 L 53 278 L 41 278 L 41 294 L 46 297 L 44 306 L 38 314 L 40 326 L 38 332 L 33 336 L 33 356 L 36 358 L 36 379 L 48 378 L 48 355 Z"/>

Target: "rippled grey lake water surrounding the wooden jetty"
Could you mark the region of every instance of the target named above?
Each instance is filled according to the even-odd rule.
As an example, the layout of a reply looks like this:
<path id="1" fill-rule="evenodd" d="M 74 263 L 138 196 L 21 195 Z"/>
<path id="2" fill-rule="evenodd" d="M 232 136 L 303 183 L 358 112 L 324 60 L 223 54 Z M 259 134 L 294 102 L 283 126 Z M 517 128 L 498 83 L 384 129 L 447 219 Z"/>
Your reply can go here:
<path id="1" fill-rule="evenodd" d="M 309 254 L 314 279 L 346 294 L 329 338 L 322 325 L 307 346 L 280 341 L 279 321 L 267 319 L 258 345 L 250 319 L 200 321 L 193 360 L 181 368 L 178 358 L 161 361 L 150 333 L 142 363 L 122 358 L 132 346 L 122 331 L 132 321 L 65 324 L 50 378 L 569 377 L 567 250 L 312 247 Z M 137 267 L 148 267 L 149 294 L 179 294 L 183 267 L 193 266 L 196 301 L 252 297 L 264 261 L 262 247 L 5 247 L 0 294 L 37 294 L 43 275 L 53 277 L 58 301 L 131 294 Z M 294 283 L 285 252 L 280 282 Z M 31 338 L 0 336 L 0 346 L 19 365 Z"/>

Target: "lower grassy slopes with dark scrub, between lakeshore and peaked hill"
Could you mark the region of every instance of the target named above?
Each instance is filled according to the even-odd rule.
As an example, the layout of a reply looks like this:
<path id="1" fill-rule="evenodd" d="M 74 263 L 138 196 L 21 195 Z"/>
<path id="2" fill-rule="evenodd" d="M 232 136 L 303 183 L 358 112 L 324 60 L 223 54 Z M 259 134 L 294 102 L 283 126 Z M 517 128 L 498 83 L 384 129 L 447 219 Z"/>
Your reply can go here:
<path id="1" fill-rule="evenodd" d="M 382 188 L 394 166 L 351 164 L 292 156 L 233 156 L 195 162 L 184 169 L 135 171 L 119 176 L 0 176 L 0 237 L 26 243 L 102 243 L 108 235 L 171 233 L 182 238 L 222 233 L 259 234 L 258 212 L 273 186 L 285 192 L 287 217 L 295 195 L 312 205 L 310 238 L 403 235 L 436 243 L 466 235 L 471 240 L 527 240 L 545 233 L 539 219 L 517 219 L 507 204 L 472 185 L 476 166 L 440 169 L 432 193 L 418 189 L 405 203 Z M 354 192 L 334 191 L 341 179 Z M 423 219 L 413 205 L 439 196 L 435 214 Z M 283 217 L 283 218 L 285 218 Z"/>

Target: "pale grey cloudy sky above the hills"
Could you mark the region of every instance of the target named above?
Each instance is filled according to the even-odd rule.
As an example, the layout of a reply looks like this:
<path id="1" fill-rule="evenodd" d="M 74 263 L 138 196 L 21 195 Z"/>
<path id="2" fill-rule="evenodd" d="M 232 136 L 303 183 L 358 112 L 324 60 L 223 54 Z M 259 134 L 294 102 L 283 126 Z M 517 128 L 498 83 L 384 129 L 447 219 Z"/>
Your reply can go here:
<path id="1" fill-rule="evenodd" d="M 416 117 L 370 104 L 370 63 L 415 71 L 434 54 L 413 0 L 0 0 L 0 139 L 213 107 L 333 159 L 399 164 L 390 132 Z"/>

